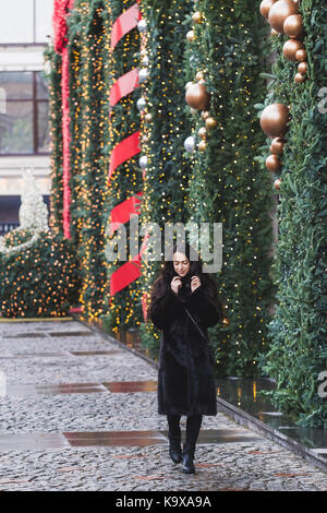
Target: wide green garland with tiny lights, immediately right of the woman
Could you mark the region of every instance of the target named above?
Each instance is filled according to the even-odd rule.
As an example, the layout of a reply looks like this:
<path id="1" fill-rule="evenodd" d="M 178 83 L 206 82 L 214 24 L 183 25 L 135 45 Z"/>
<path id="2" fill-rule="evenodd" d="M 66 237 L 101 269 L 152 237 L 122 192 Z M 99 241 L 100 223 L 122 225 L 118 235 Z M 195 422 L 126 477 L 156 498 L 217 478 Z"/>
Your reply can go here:
<path id="1" fill-rule="evenodd" d="M 217 126 L 207 130 L 206 150 L 191 156 L 189 212 L 197 223 L 222 223 L 222 269 L 217 274 L 226 320 L 210 329 L 218 372 L 257 375 L 259 354 L 267 349 L 269 275 L 274 206 L 269 172 L 255 162 L 265 138 L 254 105 L 265 86 L 265 34 L 259 1 L 198 0 L 201 23 L 189 24 L 187 80 L 203 72 L 210 92 L 209 115 Z M 193 134 L 205 127 L 193 115 Z M 211 244 L 213 250 L 213 244 Z"/>

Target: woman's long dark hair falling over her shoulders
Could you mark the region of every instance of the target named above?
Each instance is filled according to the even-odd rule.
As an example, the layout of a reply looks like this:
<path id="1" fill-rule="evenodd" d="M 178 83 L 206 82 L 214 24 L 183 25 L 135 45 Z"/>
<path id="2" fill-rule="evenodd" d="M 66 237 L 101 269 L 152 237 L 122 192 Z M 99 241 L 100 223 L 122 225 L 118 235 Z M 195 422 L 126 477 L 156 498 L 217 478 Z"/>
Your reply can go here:
<path id="1" fill-rule="evenodd" d="M 164 267 L 161 269 L 159 276 L 155 279 L 153 284 L 147 315 L 148 321 L 150 317 L 152 307 L 156 305 L 157 301 L 159 301 L 166 295 L 168 287 L 170 287 L 173 276 L 177 275 L 172 261 L 172 256 L 177 251 L 187 256 L 191 264 L 190 274 L 191 276 L 196 275 L 199 277 L 204 293 L 208 296 L 208 298 L 213 302 L 216 302 L 216 300 L 218 299 L 216 281 L 214 279 L 213 275 L 203 272 L 203 262 L 198 253 L 187 242 L 185 242 L 184 244 L 182 244 L 181 242 L 174 242 L 172 253 L 169 255 L 169 259 L 165 261 Z"/>

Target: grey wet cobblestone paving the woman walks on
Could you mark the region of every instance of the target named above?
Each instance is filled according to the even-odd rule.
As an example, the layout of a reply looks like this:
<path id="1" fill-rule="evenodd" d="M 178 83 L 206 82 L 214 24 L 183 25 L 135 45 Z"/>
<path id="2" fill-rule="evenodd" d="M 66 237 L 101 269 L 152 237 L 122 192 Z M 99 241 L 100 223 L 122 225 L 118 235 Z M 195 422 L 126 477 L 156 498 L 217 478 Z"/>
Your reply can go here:
<path id="1" fill-rule="evenodd" d="M 68 335 L 87 331 L 88 335 Z M 50 336 L 58 332 L 63 336 Z M 19 337 L 26 333 L 31 336 Z M 117 353 L 70 354 L 77 350 Z M 26 357 L 27 353 L 65 354 Z M 9 358 L 17 354 L 23 356 Z M 75 321 L 0 323 L 0 370 L 9 385 L 157 379 L 148 362 Z M 5 434 L 167 429 L 166 418 L 157 415 L 156 392 L 28 395 L 27 387 L 25 392 L 0 397 L 0 442 Z M 301 457 L 222 414 L 204 417 L 203 430 L 217 429 L 240 430 L 250 438 L 198 444 L 196 474 L 191 476 L 169 460 L 167 444 L 1 449 L 0 490 L 327 490 L 327 474 Z"/>

